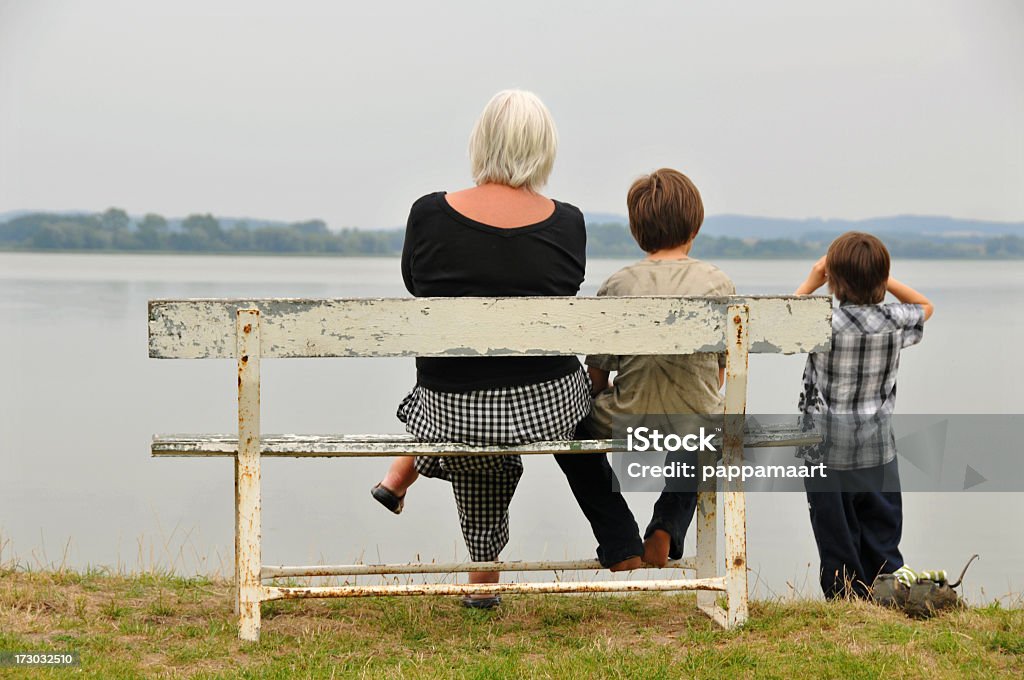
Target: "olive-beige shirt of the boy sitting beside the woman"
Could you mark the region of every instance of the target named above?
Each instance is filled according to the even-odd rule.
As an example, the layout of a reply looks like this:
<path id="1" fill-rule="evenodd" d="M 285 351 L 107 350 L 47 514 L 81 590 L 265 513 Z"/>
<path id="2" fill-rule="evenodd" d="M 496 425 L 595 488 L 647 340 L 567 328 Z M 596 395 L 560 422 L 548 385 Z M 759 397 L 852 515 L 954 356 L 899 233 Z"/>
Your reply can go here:
<path id="1" fill-rule="evenodd" d="M 732 281 L 713 264 L 693 258 L 640 260 L 611 274 L 598 296 L 734 295 Z M 719 414 L 718 370 L 722 354 L 593 354 L 587 366 L 616 373 L 613 386 L 594 399 L 588 430 L 610 436 L 612 418 L 626 414 Z"/>

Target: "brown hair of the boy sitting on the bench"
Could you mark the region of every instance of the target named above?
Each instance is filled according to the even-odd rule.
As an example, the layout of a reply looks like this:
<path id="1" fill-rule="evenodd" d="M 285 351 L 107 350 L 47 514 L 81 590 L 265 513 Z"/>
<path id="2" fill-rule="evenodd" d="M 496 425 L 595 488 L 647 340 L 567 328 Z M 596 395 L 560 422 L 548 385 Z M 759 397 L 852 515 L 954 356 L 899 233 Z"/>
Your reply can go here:
<path id="1" fill-rule="evenodd" d="M 689 177 L 671 168 L 633 182 L 626 204 L 630 231 L 645 253 L 689 243 L 703 222 L 700 192 Z"/>

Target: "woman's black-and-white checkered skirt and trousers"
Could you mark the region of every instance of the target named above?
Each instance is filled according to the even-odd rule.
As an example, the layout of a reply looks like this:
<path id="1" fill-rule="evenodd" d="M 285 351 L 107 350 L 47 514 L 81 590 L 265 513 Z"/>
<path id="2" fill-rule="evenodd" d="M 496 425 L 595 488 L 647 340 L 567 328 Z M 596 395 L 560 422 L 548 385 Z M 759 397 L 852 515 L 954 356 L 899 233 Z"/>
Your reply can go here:
<path id="1" fill-rule="evenodd" d="M 423 441 L 512 445 L 571 439 L 590 407 L 590 379 L 581 367 L 557 380 L 472 392 L 436 392 L 417 385 L 398 406 L 397 416 Z M 419 456 L 416 469 L 452 482 L 470 559 L 498 559 L 509 541 L 509 503 L 522 476 L 522 459 Z"/>

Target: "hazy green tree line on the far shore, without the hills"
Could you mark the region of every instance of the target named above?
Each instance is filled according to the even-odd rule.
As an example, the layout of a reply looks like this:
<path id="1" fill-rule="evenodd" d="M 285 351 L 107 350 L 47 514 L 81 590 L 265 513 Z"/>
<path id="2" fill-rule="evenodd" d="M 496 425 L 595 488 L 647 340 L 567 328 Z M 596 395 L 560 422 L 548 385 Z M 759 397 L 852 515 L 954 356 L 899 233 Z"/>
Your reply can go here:
<path id="1" fill-rule="evenodd" d="M 195 214 L 172 222 L 150 213 L 134 220 L 120 208 L 97 214 L 31 213 L 0 223 L 0 250 L 398 255 L 403 238 L 401 229 L 333 231 L 318 219 L 249 223 Z M 592 257 L 642 256 L 629 228 L 621 222 L 588 224 L 587 238 Z M 1017 236 L 966 241 L 882 238 L 894 257 L 1024 258 L 1024 239 Z M 803 240 L 701 235 L 693 255 L 703 259 L 810 258 L 820 256 L 829 241 L 824 235 Z"/>

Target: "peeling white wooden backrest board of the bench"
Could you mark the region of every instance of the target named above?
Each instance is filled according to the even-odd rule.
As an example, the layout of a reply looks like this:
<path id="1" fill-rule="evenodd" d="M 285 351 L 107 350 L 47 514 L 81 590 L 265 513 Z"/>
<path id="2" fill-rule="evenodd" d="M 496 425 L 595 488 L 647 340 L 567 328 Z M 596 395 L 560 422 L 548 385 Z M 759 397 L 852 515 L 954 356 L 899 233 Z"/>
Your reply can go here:
<path id="1" fill-rule="evenodd" d="M 737 304 L 751 352 L 828 349 L 826 297 L 195 299 L 150 302 L 150 356 L 236 357 L 239 309 L 264 358 L 723 352 Z"/>

